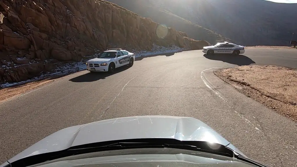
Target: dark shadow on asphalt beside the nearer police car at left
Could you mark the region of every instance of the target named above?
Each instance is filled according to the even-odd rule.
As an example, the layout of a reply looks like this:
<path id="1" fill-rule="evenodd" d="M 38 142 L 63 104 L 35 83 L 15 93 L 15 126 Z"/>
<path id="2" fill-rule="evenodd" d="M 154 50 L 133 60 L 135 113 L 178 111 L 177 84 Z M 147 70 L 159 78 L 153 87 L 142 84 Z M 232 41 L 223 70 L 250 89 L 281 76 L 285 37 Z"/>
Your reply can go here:
<path id="1" fill-rule="evenodd" d="M 78 77 L 75 77 L 75 78 L 71 78 L 69 79 L 69 81 L 72 81 L 72 82 L 93 82 L 93 81 L 98 81 L 100 79 L 105 79 L 106 77 L 110 76 L 110 75 L 114 75 L 116 73 L 120 73 L 124 70 L 127 70 L 129 68 L 129 66 L 122 66 L 122 67 L 119 67 L 119 68 L 116 68 L 114 73 L 110 74 L 110 73 L 107 73 L 107 72 L 89 72 L 86 73 L 86 74 L 83 74 L 83 75 L 80 75 Z"/>

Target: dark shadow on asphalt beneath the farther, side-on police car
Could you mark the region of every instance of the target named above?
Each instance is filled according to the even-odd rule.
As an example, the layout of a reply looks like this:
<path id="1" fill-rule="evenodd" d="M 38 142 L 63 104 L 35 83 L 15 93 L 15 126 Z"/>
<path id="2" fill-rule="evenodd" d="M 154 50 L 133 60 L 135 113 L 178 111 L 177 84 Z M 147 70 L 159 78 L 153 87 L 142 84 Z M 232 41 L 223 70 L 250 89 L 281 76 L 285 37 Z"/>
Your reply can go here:
<path id="1" fill-rule="evenodd" d="M 214 54 L 214 55 L 207 55 L 204 54 L 204 57 L 207 59 L 211 60 L 219 60 L 222 62 L 230 63 L 230 64 L 236 64 L 238 66 L 243 66 L 243 65 L 250 65 L 255 63 L 252 59 L 250 59 L 247 56 L 244 55 L 231 55 L 231 54 Z"/>

